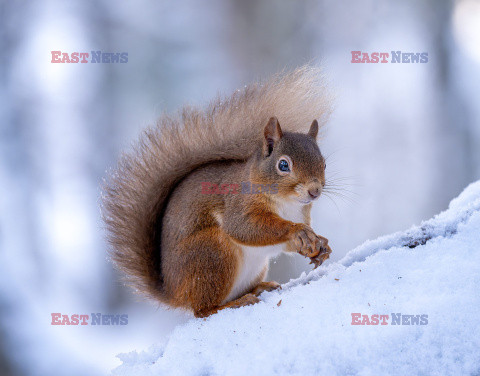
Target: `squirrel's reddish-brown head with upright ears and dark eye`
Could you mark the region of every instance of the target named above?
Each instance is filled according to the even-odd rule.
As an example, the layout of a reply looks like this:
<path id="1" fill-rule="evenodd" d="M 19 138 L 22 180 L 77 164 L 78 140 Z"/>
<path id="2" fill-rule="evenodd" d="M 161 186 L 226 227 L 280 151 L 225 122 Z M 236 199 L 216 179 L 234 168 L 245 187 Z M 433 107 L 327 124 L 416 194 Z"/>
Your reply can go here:
<path id="1" fill-rule="evenodd" d="M 263 184 L 276 184 L 278 195 L 308 204 L 317 199 L 325 186 L 325 159 L 316 137 L 314 120 L 306 134 L 282 132 L 276 117 L 264 129 L 258 170 L 255 175 Z"/>

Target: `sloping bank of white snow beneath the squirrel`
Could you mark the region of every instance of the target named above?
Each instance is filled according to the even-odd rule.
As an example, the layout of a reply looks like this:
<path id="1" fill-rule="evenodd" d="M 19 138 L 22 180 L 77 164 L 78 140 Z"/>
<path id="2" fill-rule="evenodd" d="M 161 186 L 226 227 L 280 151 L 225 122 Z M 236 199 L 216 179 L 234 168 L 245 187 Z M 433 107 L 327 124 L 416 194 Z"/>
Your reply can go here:
<path id="1" fill-rule="evenodd" d="M 480 181 L 433 219 L 120 354 L 114 375 L 480 374 Z M 279 305 L 279 301 L 281 303 Z M 352 325 L 352 313 L 389 315 Z M 392 313 L 428 315 L 392 325 Z"/>

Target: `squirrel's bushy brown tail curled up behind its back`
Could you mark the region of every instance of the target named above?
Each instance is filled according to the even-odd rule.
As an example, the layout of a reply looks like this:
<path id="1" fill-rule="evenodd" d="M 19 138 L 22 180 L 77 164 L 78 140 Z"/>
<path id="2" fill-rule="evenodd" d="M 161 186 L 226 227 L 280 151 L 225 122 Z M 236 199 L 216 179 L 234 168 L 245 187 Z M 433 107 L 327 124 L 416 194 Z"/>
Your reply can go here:
<path id="1" fill-rule="evenodd" d="M 244 160 L 261 145 L 276 116 L 285 131 L 322 124 L 331 100 L 318 68 L 305 66 L 218 98 L 206 110 L 163 116 L 120 159 L 106 180 L 103 218 L 111 258 L 141 293 L 164 301 L 159 236 L 168 195 L 193 169 L 218 160 Z"/>

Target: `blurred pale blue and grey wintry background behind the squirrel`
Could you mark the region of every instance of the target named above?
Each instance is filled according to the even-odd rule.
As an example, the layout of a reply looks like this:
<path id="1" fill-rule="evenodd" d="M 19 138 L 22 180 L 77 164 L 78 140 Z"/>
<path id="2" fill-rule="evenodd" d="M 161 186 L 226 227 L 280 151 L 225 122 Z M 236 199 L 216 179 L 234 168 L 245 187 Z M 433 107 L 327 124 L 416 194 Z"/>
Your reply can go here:
<path id="1" fill-rule="evenodd" d="M 2 1 L 0 46 L 1 375 L 104 374 L 190 318 L 122 286 L 100 221 L 106 170 L 163 111 L 321 63 L 337 101 L 320 146 L 347 196 L 313 215 L 333 260 L 480 178 L 478 1 Z M 52 50 L 128 63 L 51 64 Z M 429 60 L 352 64 L 353 50 Z M 281 257 L 271 277 L 308 269 Z M 52 312 L 129 321 L 51 326 Z"/>

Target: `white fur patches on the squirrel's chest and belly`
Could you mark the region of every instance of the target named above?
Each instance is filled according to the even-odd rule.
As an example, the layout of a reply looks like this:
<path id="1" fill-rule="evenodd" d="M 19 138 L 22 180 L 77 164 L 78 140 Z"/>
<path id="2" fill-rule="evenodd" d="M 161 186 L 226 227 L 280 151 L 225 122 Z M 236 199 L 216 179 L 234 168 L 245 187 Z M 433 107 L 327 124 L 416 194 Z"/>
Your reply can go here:
<path id="1" fill-rule="evenodd" d="M 285 203 L 279 207 L 278 215 L 285 220 L 295 223 L 303 223 L 304 215 L 302 213 L 302 207 L 300 203 Z M 251 247 L 241 245 L 242 261 L 235 278 L 230 293 L 228 294 L 225 302 L 237 299 L 242 295 L 248 293 L 253 286 L 253 283 L 258 278 L 266 267 L 270 258 L 279 255 L 285 250 L 286 243 L 280 243 L 275 245 L 269 245 L 265 247 Z"/>

